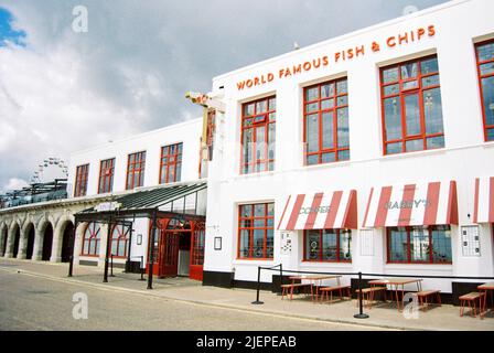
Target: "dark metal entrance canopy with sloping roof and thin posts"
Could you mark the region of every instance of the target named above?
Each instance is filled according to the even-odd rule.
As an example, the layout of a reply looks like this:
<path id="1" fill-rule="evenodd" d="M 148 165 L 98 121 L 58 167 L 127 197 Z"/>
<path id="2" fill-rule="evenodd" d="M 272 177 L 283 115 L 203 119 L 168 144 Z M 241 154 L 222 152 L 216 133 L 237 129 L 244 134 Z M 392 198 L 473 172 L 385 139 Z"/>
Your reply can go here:
<path id="1" fill-rule="evenodd" d="M 74 268 L 74 249 L 75 249 L 75 239 L 76 239 L 76 229 L 79 223 L 99 223 L 107 224 L 107 243 L 106 243 L 106 255 L 105 255 L 105 272 L 104 272 L 104 282 L 108 281 L 108 259 L 110 253 L 110 226 L 112 224 L 119 224 L 125 226 L 130 226 L 132 229 L 133 222 L 136 218 L 150 218 L 152 220 L 152 238 L 151 245 L 149 247 L 149 275 L 148 275 L 148 289 L 152 289 L 152 267 L 154 264 L 154 240 L 158 228 L 158 218 L 168 218 L 168 217 L 176 217 L 180 215 L 183 220 L 186 221 L 195 221 L 195 220 L 204 220 L 205 216 L 197 215 L 197 197 L 198 192 L 203 191 L 207 188 L 205 182 L 184 184 L 184 185 L 168 185 L 163 188 L 157 188 L 152 190 L 146 191 L 136 191 L 130 194 L 116 196 L 111 202 L 121 203 L 121 207 L 114 211 L 96 211 L 94 208 L 87 208 L 82 212 L 78 212 L 74 215 L 74 244 L 72 246 L 72 255 L 71 263 L 68 266 L 68 277 L 73 275 Z M 185 213 L 185 197 L 189 195 L 195 195 L 194 203 L 194 214 Z M 183 200 L 183 207 L 181 213 L 173 212 L 174 202 L 179 200 Z M 171 204 L 171 211 L 160 211 L 160 207 L 167 206 Z M 179 211 L 179 210 L 178 210 Z M 133 218 L 133 221 L 127 221 L 128 218 Z M 130 231 L 130 236 L 132 235 L 132 231 Z M 130 259 L 130 246 L 131 242 L 129 240 L 129 252 L 128 252 L 128 260 Z"/>

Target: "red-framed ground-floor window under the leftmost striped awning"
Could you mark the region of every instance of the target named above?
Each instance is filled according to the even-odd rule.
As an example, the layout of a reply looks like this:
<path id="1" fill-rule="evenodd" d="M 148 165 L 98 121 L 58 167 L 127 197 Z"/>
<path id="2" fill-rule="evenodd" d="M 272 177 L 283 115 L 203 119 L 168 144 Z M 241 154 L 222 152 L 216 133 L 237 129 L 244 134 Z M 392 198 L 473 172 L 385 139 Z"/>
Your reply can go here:
<path id="1" fill-rule="evenodd" d="M 305 261 L 352 261 L 352 231 L 313 229 L 303 232 Z"/>

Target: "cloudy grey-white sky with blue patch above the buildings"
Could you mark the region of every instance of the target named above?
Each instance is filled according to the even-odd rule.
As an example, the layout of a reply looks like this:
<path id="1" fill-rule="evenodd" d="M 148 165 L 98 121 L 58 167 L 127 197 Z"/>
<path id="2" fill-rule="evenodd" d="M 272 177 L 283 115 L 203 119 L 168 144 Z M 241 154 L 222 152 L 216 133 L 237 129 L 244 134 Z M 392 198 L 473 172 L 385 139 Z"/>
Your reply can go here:
<path id="1" fill-rule="evenodd" d="M 0 0 L 0 193 L 47 158 L 200 117 L 184 94 L 214 76 L 442 2 Z"/>

